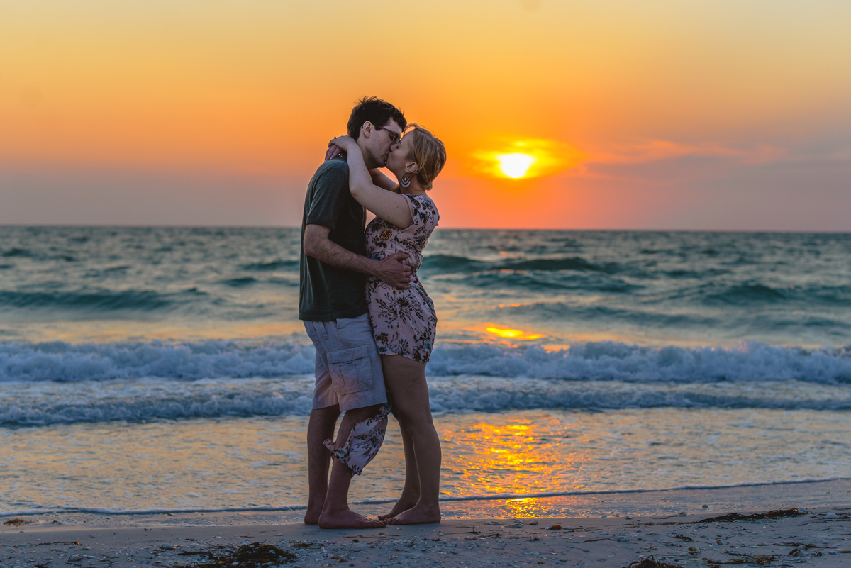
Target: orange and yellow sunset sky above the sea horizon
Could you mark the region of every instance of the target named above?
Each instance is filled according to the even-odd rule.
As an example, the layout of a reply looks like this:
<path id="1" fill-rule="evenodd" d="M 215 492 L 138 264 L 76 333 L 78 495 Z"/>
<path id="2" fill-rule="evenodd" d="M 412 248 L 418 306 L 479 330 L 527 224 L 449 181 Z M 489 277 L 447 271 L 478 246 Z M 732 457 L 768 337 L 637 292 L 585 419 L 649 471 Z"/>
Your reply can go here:
<path id="1" fill-rule="evenodd" d="M 447 146 L 442 227 L 848 231 L 849 24 L 847 0 L 6 2 L 0 224 L 298 225 L 377 95 Z"/>

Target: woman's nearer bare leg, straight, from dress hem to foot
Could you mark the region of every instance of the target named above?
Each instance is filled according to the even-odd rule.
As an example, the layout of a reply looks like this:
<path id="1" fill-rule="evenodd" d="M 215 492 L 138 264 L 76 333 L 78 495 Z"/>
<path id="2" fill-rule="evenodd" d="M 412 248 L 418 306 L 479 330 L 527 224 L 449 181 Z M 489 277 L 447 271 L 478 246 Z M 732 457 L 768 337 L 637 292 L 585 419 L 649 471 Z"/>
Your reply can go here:
<path id="1" fill-rule="evenodd" d="M 417 503 L 397 514 L 390 523 L 437 523 L 440 521 L 437 497 L 440 494 L 441 450 L 440 439 L 431 420 L 426 365 L 402 355 L 381 355 L 381 366 L 384 382 L 393 399 L 393 414 L 410 436 L 420 478 Z"/>

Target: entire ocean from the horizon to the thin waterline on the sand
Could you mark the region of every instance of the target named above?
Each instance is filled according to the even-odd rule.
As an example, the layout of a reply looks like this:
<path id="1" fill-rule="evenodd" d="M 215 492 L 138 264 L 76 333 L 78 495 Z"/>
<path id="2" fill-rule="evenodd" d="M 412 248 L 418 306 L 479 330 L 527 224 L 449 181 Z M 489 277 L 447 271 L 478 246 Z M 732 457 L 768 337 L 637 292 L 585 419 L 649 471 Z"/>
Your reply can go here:
<path id="1" fill-rule="evenodd" d="M 299 241 L 0 227 L 0 514 L 302 510 Z M 420 277 L 448 509 L 851 478 L 851 235 L 438 229 Z"/>

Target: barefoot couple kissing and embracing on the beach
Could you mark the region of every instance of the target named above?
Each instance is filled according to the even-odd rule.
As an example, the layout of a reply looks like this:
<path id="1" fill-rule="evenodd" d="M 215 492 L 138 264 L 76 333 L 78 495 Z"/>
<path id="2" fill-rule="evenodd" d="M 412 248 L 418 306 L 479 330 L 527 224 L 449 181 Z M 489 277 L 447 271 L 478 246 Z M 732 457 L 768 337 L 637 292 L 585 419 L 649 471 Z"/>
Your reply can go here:
<path id="1" fill-rule="evenodd" d="M 305 523 L 434 523 L 441 450 L 426 363 L 437 314 L 417 269 L 439 219 L 427 193 L 446 149 L 374 97 L 358 101 L 347 131 L 331 140 L 311 178 L 301 221 L 299 319 L 316 348 Z M 375 215 L 368 225 L 367 209 Z M 402 431 L 405 484 L 390 513 L 373 520 L 349 508 L 349 486 L 378 453 L 391 412 Z"/>

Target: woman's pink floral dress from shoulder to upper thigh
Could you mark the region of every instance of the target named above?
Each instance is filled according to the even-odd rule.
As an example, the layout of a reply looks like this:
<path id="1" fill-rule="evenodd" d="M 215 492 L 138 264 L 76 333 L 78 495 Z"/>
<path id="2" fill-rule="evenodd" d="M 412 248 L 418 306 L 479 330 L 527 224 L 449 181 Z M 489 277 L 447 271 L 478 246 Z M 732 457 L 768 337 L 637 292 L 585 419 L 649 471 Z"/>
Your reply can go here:
<path id="1" fill-rule="evenodd" d="M 402 195 L 408 199 L 408 207 L 411 208 L 411 226 L 399 229 L 376 217 L 367 225 L 367 253 L 376 260 L 391 254 L 408 253 L 408 264 L 413 273 L 411 287 L 400 290 L 370 276 L 367 281 L 369 321 L 380 354 L 403 355 L 427 363 L 434 347 L 437 314 L 434 303 L 420 283 L 417 269 L 423 262 L 423 248 L 431 231 L 437 227 L 440 215 L 431 197 Z"/>

